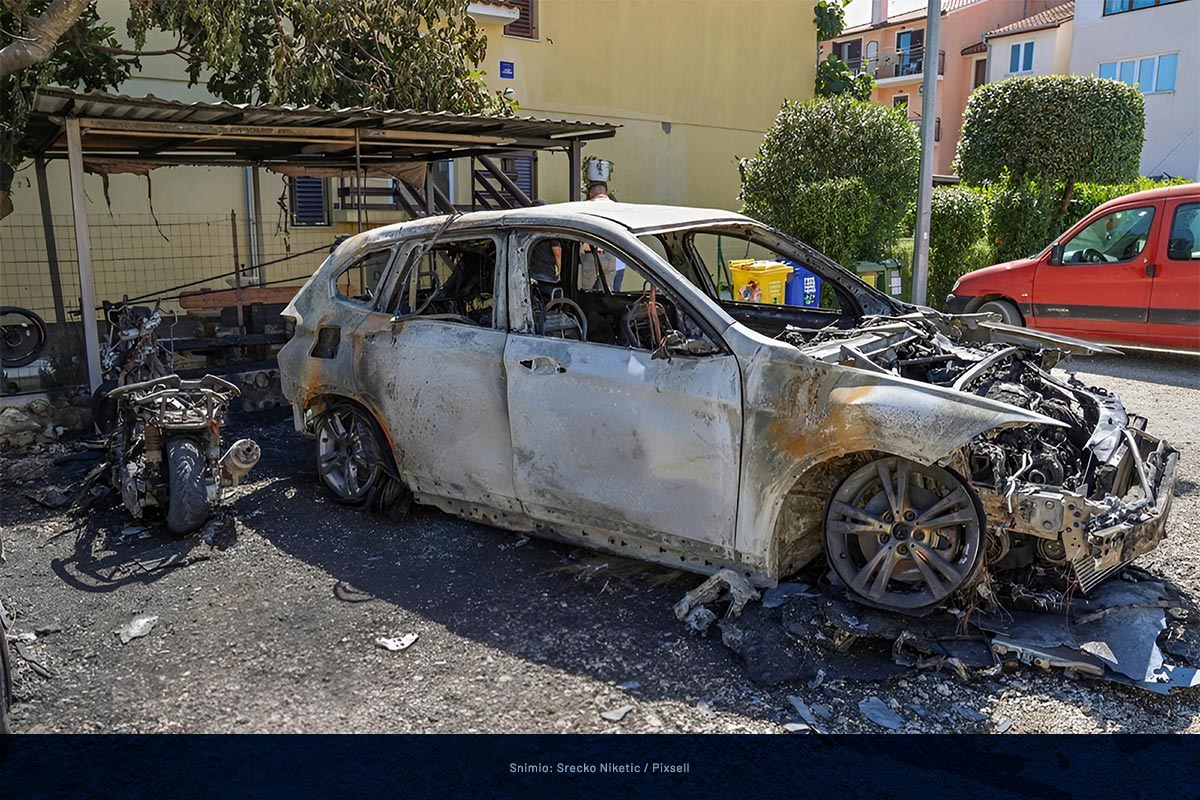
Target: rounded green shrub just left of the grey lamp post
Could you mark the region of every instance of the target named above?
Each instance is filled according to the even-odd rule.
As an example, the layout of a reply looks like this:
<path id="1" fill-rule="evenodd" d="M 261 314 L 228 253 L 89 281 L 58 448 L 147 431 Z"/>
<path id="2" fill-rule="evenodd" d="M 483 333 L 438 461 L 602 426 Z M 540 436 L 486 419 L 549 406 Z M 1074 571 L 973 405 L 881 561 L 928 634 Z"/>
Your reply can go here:
<path id="1" fill-rule="evenodd" d="M 742 162 L 742 200 L 748 215 L 832 258 L 874 259 L 900 234 L 919 163 L 917 128 L 902 110 L 847 97 L 788 101 Z M 814 185 L 829 193 L 805 188 Z"/>

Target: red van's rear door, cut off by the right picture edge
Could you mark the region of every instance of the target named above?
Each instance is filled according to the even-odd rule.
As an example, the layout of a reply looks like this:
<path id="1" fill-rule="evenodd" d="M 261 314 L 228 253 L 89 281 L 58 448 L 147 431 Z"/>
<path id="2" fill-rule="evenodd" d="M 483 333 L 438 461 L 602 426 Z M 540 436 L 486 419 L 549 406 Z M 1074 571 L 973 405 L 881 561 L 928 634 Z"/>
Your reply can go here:
<path id="1" fill-rule="evenodd" d="M 1168 200 L 1150 294 L 1147 338 L 1200 349 L 1200 199 Z"/>

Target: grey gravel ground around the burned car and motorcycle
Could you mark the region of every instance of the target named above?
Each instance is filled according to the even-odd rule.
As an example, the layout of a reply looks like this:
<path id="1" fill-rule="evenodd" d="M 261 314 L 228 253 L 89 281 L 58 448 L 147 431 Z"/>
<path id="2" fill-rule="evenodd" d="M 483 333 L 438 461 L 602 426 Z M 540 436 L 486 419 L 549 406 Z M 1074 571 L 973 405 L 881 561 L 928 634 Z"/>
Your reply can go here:
<path id="1" fill-rule="evenodd" d="M 1079 360 L 1183 452 L 1169 539 L 1139 564 L 1200 599 L 1200 360 Z M 25 497 L 46 461 L 0 461 L 0 600 L 53 675 L 18 658 L 19 732 L 900 732 L 1200 733 L 1200 692 L 1158 697 L 1033 669 L 888 681 L 750 682 L 719 636 L 671 607 L 694 576 L 581 569 L 596 557 L 414 509 L 403 519 L 320 491 L 283 411 L 230 419 L 263 445 L 252 480 L 199 539 L 122 536 Z M 24 483 L 23 483 L 24 482 Z M 164 546 L 175 569 L 132 557 Z M 143 559 L 145 561 L 145 559 Z M 155 561 L 149 561 L 152 566 Z M 121 644 L 136 619 L 157 618 Z M 380 639 L 413 637 L 402 651 Z M 886 714 L 884 714 L 886 712 Z M 787 726 L 787 727 L 785 727 Z"/>

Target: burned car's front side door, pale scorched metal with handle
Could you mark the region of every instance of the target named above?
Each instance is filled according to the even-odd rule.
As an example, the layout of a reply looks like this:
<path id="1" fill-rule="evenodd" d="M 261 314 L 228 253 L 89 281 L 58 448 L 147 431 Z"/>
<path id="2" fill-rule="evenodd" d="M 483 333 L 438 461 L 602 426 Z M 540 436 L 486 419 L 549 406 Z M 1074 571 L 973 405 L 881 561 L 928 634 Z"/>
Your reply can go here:
<path id="1" fill-rule="evenodd" d="M 587 533 L 707 543 L 731 558 L 742 451 L 736 357 L 724 349 L 653 357 L 540 335 L 526 272 L 539 236 L 518 231 L 509 245 L 504 373 L 514 481 L 526 512 Z M 619 247 L 600 243 L 649 275 Z"/>

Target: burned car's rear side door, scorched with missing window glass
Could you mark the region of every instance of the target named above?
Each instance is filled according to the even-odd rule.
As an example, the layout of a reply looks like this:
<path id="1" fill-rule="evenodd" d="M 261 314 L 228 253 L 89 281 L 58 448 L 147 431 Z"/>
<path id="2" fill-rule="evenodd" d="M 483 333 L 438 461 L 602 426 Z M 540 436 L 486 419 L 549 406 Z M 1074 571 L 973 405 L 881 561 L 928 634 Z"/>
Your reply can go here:
<path id="1" fill-rule="evenodd" d="M 494 308 L 503 308 L 503 241 L 499 234 L 472 233 L 443 237 L 428 252 L 424 251 L 428 239 L 402 249 L 376 309 L 354 332 L 354 369 L 356 385 L 391 438 L 409 488 L 517 511 L 503 371 L 504 314 L 480 325 L 444 307 L 419 307 L 420 297 L 449 285 L 444 254 L 491 242 L 496 263 L 488 293 Z"/>

